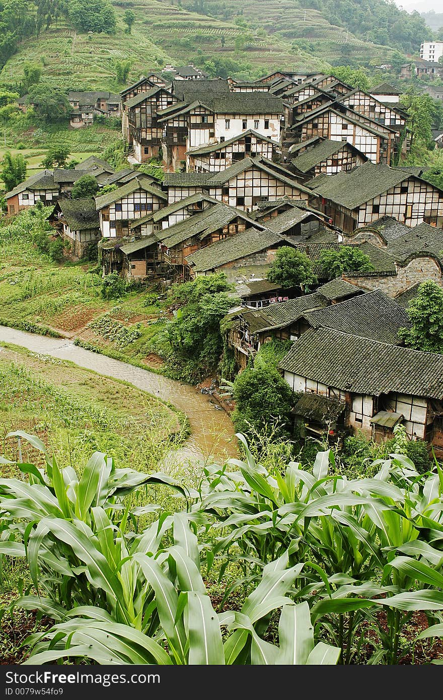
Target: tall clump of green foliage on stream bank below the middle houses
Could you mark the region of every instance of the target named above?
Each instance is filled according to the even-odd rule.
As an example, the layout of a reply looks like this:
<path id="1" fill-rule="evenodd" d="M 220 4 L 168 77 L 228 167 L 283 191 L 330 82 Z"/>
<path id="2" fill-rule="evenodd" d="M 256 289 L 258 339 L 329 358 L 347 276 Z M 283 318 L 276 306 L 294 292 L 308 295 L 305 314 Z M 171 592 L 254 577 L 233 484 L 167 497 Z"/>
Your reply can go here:
<path id="1" fill-rule="evenodd" d="M 199 276 L 174 289 L 173 299 L 181 308 L 167 327 L 167 338 L 176 357 L 189 365 L 197 381 L 215 370 L 220 360 L 220 322 L 237 301 L 231 293 L 232 286 L 223 273 Z"/>

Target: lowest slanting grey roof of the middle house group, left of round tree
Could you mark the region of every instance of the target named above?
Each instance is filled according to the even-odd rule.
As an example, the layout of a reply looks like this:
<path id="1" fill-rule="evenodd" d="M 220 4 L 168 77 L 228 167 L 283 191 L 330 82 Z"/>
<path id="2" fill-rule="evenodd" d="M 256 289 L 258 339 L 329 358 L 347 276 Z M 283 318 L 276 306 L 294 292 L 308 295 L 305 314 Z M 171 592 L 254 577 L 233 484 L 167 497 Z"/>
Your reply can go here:
<path id="1" fill-rule="evenodd" d="M 286 239 L 277 233 L 269 230 L 259 231 L 256 228 L 248 228 L 232 237 L 213 243 L 211 246 L 200 248 L 191 255 L 188 255 L 188 262 L 192 264 L 196 272 L 206 272 L 209 269 L 216 269 L 227 262 L 245 258 L 247 255 L 259 253 L 277 243 L 285 242 Z"/>

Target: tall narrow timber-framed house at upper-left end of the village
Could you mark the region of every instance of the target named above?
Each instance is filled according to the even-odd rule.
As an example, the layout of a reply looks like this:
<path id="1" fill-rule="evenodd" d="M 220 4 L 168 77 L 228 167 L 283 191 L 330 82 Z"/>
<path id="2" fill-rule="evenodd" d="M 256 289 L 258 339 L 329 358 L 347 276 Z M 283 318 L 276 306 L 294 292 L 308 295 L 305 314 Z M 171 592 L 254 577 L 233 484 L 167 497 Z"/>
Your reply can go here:
<path id="1" fill-rule="evenodd" d="M 175 104 L 177 98 L 165 87 L 153 87 L 127 99 L 127 142 L 134 150 L 134 158 L 143 163 L 158 158 L 162 147 L 162 125 L 158 113 Z"/>

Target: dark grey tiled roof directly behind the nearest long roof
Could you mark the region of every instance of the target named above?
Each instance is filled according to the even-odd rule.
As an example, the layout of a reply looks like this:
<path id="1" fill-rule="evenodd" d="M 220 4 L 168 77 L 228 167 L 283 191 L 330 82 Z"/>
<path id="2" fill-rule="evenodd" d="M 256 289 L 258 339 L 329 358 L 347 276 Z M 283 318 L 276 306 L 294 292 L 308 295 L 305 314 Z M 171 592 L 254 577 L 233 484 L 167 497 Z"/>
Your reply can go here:
<path id="1" fill-rule="evenodd" d="M 332 328 L 359 337 L 398 345 L 400 328 L 410 328 L 405 309 L 376 290 L 307 314 L 314 328 Z"/>

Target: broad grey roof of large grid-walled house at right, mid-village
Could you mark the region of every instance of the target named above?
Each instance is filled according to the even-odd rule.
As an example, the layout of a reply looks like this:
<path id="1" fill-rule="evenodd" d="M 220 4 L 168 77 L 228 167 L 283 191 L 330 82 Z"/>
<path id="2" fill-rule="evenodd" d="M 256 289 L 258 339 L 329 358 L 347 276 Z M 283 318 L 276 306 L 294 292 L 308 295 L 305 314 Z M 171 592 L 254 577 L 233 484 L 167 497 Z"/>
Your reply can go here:
<path id="1" fill-rule="evenodd" d="M 346 209 L 356 209 L 410 177 L 412 176 L 402 170 L 381 163 L 375 165 L 368 160 L 349 172 L 318 175 L 306 185 L 327 200 L 341 204 Z"/>

